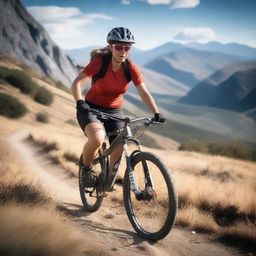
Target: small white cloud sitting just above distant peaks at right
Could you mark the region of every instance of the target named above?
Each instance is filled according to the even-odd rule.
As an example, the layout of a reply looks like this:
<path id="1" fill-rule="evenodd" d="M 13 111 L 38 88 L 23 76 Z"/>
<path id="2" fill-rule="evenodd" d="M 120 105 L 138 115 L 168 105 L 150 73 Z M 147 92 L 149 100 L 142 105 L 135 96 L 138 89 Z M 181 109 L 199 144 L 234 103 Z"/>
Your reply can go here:
<path id="1" fill-rule="evenodd" d="M 215 38 L 215 32 L 211 28 L 184 28 L 174 39 L 177 41 L 207 42 Z"/>

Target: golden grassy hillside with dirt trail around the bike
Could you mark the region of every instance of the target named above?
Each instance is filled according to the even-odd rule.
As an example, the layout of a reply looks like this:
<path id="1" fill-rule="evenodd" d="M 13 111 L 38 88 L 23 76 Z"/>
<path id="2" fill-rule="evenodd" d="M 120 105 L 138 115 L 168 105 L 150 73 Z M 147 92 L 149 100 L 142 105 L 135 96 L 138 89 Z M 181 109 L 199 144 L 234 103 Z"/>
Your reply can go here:
<path id="1" fill-rule="evenodd" d="M 26 256 L 142 256 L 145 253 L 149 256 L 170 253 L 241 256 L 234 248 L 235 239 L 239 239 L 240 250 L 254 253 L 253 222 L 247 225 L 241 221 L 241 218 L 254 221 L 251 217 L 255 209 L 254 163 L 176 151 L 173 149 L 177 143 L 156 134 L 161 127 L 157 127 L 156 133 L 148 133 L 154 144 L 144 149 L 166 162 L 180 200 L 171 233 L 158 243 L 151 243 L 132 229 L 123 206 L 121 185 L 104 198 L 104 204 L 96 213 L 84 212 L 77 188 L 76 162 L 86 138 L 77 126 L 72 96 L 56 88 L 52 79 L 10 57 L 2 56 L 0 66 L 25 70 L 54 96 L 52 104 L 46 106 L 0 81 L 0 93 L 16 97 L 28 109 L 26 115 L 18 119 L 0 115 L 0 196 L 5 200 L 0 207 L 0 252 L 4 248 L 5 252 L 12 252 L 10 255 L 18 255 L 23 250 Z M 146 113 L 136 104 L 127 106 L 128 111 L 132 115 Z M 48 116 L 48 121 L 40 121 L 38 113 Z M 169 128 L 165 129 L 168 133 Z M 179 129 L 185 131 L 182 126 L 178 126 L 177 131 Z M 165 150 L 152 145 L 165 146 Z M 120 178 L 123 178 L 123 169 Z M 228 212 L 231 217 L 226 221 L 229 209 L 233 211 Z M 229 246 L 233 247 L 219 242 L 226 241 L 230 232 L 234 240 Z M 202 251 L 205 253 L 201 254 Z"/>

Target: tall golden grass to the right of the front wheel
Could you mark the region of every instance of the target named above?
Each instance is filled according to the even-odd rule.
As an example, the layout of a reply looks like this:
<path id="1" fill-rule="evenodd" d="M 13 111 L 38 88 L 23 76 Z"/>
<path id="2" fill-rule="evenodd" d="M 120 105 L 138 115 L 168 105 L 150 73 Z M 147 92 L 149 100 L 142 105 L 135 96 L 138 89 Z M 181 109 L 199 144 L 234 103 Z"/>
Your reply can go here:
<path id="1" fill-rule="evenodd" d="M 256 240 L 255 163 L 192 152 L 145 150 L 160 155 L 171 170 L 179 197 L 177 225 L 220 237 L 232 234 L 252 243 Z M 70 154 L 74 159 L 79 156 Z M 61 160 L 61 164 L 70 161 L 71 170 L 77 169 L 73 158 Z M 119 178 L 124 171 L 123 162 Z M 121 190 L 112 200 L 122 203 Z"/>

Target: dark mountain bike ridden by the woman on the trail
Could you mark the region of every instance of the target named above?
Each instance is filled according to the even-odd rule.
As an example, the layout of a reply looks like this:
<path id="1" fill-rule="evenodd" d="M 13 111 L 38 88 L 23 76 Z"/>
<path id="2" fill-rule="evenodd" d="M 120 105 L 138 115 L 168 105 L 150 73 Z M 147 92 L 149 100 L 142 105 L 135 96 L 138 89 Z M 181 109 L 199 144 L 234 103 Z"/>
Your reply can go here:
<path id="1" fill-rule="evenodd" d="M 92 163 L 93 171 L 97 174 L 95 186 L 87 188 L 82 182 L 82 156 L 79 163 L 79 190 L 84 208 L 95 212 L 102 204 L 106 191 L 111 191 L 117 179 L 119 166 L 125 158 L 126 170 L 123 180 L 123 200 L 129 221 L 135 231 L 150 240 L 164 238 L 172 229 L 178 198 L 172 176 L 168 167 L 155 154 L 144 152 L 139 141 L 146 127 L 160 124 L 150 117 L 136 119 L 119 118 L 98 110 L 91 111 L 99 119 L 114 119 L 124 123 L 117 137 L 107 147 L 104 142 Z M 107 134 L 110 136 L 111 134 Z M 134 144 L 137 149 L 129 152 L 128 147 Z M 123 145 L 123 157 L 109 172 L 110 154 Z"/>

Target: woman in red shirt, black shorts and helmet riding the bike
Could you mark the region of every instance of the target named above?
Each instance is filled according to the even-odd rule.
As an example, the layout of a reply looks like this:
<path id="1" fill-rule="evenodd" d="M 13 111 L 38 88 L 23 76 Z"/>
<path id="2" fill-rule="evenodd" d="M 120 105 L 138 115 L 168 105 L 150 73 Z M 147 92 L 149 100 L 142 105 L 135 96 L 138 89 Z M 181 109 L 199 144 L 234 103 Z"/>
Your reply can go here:
<path id="1" fill-rule="evenodd" d="M 99 120 L 96 115 L 90 112 L 90 108 L 94 108 L 117 116 L 122 114 L 123 94 L 128 89 L 128 81 L 122 63 L 129 60 L 131 80 L 142 101 L 154 114 L 155 121 L 165 121 L 163 115 L 159 113 L 153 97 L 147 90 L 138 67 L 128 57 L 130 48 L 135 43 L 131 31 L 124 27 L 113 28 L 107 35 L 107 43 L 106 47 L 91 52 L 91 61 L 75 78 L 71 87 L 76 101 L 77 120 L 87 136 L 83 148 L 83 180 L 85 187 L 94 186 L 95 175 L 91 164 L 105 139 L 105 131 L 114 132 L 123 126 L 121 122 L 115 120 Z M 103 62 L 102 56 L 107 54 L 111 57 L 106 74 L 96 81 L 92 79 L 91 87 L 86 93 L 85 99 L 83 99 L 81 86 L 99 72 Z M 109 137 L 110 144 L 115 137 Z M 114 164 L 120 160 L 122 151 L 123 148 L 119 146 L 112 153 L 109 163 L 110 171 Z"/>

